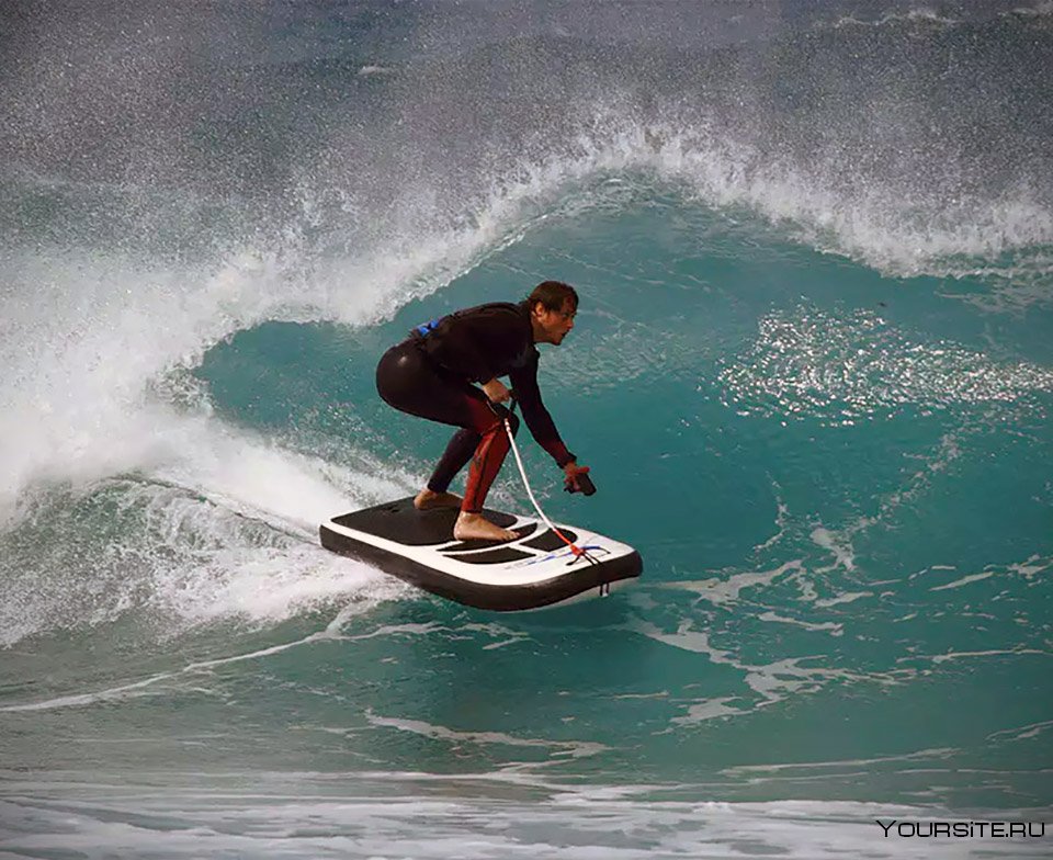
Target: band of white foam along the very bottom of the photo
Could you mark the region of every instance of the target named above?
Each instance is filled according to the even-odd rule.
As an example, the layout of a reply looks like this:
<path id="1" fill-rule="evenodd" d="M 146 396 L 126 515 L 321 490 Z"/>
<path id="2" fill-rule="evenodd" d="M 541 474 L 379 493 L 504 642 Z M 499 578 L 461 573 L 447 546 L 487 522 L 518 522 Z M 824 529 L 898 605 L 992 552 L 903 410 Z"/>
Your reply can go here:
<path id="1" fill-rule="evenodd" d="M 195 774 L 197 776 L 197 774 Z M 885 837 L 878 819 L 1032 821 L 1048 811 L 971 811 L 846 801 L 654 800 L 660 785 L 539 787 L 508 796 L 507 777 L 423 773 L 245 774 L 211 789 L 52 788 L 2 801 L 18 853 L 165 857 L 341 857 L 372 860 L 788 860 L 860 857 L 1042 857 L 1045 839 Z M 252 781 L 252 790 L 245 781 Z M 678 787 L 684 794 L 689 788 Z M 703 794 L 704 792 L 704 794 Z M 699 796 L 713 790 L 695 788 Z M 53 795 L 57 800 L 52 800 Z M 494 796 L 496 795 L 496 796 Z M 715 796 L 720 796 L 716 794 Z M 146 824 L 144 824 L 146 823 Z M 161 824 L 158 824 L 161 823 Z"/>

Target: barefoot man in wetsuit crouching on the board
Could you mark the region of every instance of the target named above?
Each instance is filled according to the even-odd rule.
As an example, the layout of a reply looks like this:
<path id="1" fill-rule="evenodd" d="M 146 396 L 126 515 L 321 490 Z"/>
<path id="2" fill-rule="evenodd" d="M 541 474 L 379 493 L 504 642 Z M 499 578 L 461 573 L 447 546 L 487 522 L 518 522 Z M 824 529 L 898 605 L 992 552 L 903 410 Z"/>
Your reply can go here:
<path id="1" fill-rule="evenodd" d="M 574 328 L 578 294 L 561 281 L 543 281 L 519 304 L 492 303 L 458 310 L 418 326 L 410 337 L 384 353 L 376 366 L 376 389 L 396 409 L 453 425 L 457 430 L 427 486 L 417 494 L 418 510 L 460 508 L 453 527 L 458 541 L 511 541 L 516 532 L 483 517 L 483 502 L 505 462 L 519 419 L 500 406 L 512 394 L 531 434 L 564 472 L 567 489 L 580 489 L 579 466 L 559 438 L 537 387 L 536 343 L 559 346 Z M 477 387 L 482 386 L 480 387 Z M 471 461 L 464 498 L 449 491 L 454 476 Z"/>

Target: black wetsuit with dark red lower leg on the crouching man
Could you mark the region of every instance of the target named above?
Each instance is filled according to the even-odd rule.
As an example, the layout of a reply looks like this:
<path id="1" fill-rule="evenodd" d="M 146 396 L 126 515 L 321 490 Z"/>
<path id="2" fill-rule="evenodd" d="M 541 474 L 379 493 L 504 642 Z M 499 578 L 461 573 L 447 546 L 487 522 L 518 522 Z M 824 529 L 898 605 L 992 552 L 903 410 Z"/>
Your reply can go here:
<path id="1" fill-rule="evenodd" d="M 404 412 L 462 428 L 428 482 L 445 493 L 469 460 L 462 510 L 477 513 L 509 450 L 502 410 L 472 383 L 508 376 L 526 427 L 561 467 L 574 454 L 559 439 L 537 387 L 537 349 L 530 308 L 495 303 L 458 310 L 418 326 L 384 353 L 376 367 L 381 397 Z M 519 421 L 509 416 L 514 432 Z"/>

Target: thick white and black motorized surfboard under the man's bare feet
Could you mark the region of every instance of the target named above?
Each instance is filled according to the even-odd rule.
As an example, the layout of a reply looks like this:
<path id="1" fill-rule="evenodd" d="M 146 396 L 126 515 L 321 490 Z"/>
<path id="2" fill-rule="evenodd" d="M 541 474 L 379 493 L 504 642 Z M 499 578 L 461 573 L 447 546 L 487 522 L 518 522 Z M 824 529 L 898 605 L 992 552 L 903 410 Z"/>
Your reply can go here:
<path id="1" fill-rule="evenodd" d="M 575 555 L 543 521 L 503 511 L 484 516 L 514 541 L 457 541 L 457 511 L 418 511 L 412 497 L 333 517 L 321 545 L 369 562 L 440 597 L 499 612 L 603 597 L 633 582 L 643 562 L 632 546 L 585 529 L 556 524 L 585 551 Z"/>

